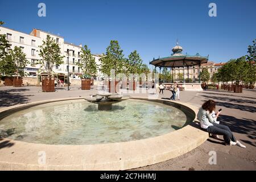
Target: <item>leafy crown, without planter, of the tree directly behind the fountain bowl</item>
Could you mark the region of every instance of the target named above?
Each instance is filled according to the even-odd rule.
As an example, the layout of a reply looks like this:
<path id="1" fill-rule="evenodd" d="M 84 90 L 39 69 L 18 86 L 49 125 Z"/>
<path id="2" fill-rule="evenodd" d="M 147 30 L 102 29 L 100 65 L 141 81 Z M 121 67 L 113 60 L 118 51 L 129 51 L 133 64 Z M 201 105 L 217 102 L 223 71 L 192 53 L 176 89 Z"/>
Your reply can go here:
<path id="1" fill-rule="evenodd" d="M 106 48 L 106 53 L 101 57 L 101 72 L 110 76 L 111 69 L 114 69 L 115 76 L 125 72 L 125 59 L 123 50 L 117 40 L 111 40 Z"/>

